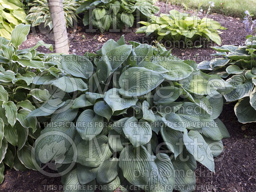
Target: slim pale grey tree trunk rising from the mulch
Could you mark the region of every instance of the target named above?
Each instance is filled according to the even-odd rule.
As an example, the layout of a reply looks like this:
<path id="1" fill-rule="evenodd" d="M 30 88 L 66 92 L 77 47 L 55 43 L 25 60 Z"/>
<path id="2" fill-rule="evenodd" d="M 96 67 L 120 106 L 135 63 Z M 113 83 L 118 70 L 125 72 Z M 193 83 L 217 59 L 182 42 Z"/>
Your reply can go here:
<path id="1" fill-rule="evenodd" d="M 69 54 L 66 20 L 62 0 L 47 0 L 52 18 L 55 52 Z"/>

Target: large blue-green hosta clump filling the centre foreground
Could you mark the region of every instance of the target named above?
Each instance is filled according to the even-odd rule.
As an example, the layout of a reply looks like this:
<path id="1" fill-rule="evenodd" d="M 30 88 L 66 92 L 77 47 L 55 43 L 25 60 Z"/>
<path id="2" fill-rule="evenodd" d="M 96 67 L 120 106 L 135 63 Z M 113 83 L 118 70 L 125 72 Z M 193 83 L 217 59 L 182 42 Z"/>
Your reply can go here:
<path id="1" fill-rule="evenodd" d="M 69 75 L 34 78 L 36 89 L 59 90 L 28 117 L 48 122 L 35 159 L 55 160 L 64 191 L 192 191 L 196 161 L 214 172 L 229 137 L 222 94 L 233 87 L 161 45 L 130 43 L 122 36 L 96 54 L 62 55 Z"/>

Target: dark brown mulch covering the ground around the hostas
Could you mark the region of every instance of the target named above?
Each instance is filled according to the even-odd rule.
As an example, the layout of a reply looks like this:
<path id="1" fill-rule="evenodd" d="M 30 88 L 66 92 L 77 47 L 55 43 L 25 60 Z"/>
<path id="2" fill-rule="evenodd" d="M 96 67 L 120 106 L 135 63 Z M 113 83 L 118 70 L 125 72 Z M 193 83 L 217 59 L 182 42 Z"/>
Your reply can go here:
<path id="1" fill-rule="evenodd" d="M 160 12 L 166 12 L 166 5 L 158 2 Z M 168 10 L 181 8 L 168 5 Z M 188 10 L 193 13 L 193 10 Z M 223 44 L 243 45 L 246 30 L 242 21 L 238 18 L 226 17 L 212 14 L 215 20 L 219 20 L 222 26 L 227 27 L 220 35 Z M 99 49 L 104 42 L 99 42 L 100 31 L 85 32 L 88 29 L 80 22 L 78 27 L 68 29 L 70 40 L 70 53 L 83 55 L 85 52 L 94 52 Z M 28 35 L 28 40 L 20 48 L 28 48 L 36 44 L 38 40 L 53 44 L 52 34 L 37 28 Z M 104 38 L 118 40 L 123 34 L 127 41 L 139 41 L 141 43 L 152 43 L 153 36 L 145 34 L 135 34 L 136 28 L 131 28 L 130 32 L 104 33 Z M 208 46 L 216 45 L 204 41 L 202 48 L 184 49 L 182 47 L 171 47 L 172 54 L 181 59 L 192 59 L 197 63 L 202 60 L 210 60 L 210 54 L 215 51 Z M 167 45 L 170 48 L 170 45 Z M 44 47 L 39 47 L 38 51 L 49 53 Z M 237 121 L 234 113 L 234 103 L 225 105 L 220 119 L 226 125 L 231 138 L 223 139 L 224 151 L 215 159 L 215 173 L 210 172 L 203 165 L 198 164 L 196 169 L 196 190 L 195 192 L 256 192 L 256 123 L 241 124 Z M 245 126 L 245 130 L 241 126 Z M 5 179 L 0 185 L 0 192 L 57 192 L 61 189 L 60 177 L 47 177 L 36 171 L 15 171 L 5 169 Z"/>

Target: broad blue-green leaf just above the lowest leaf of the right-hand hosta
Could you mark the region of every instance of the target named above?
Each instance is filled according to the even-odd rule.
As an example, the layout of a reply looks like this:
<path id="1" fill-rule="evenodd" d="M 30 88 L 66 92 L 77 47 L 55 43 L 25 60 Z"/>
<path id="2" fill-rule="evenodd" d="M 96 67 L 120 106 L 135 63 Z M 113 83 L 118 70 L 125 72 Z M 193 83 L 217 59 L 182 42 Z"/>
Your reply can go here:
<path id="1" fill-rule="evenodd" d="M 236 87 L 236 89 L 224 95 L 227 101 L 235 101 L 250 96 L 253 83 L 249 80 L 245 80 L 243 75 L 234 75 L 229 78 L 227 82 Z"/>

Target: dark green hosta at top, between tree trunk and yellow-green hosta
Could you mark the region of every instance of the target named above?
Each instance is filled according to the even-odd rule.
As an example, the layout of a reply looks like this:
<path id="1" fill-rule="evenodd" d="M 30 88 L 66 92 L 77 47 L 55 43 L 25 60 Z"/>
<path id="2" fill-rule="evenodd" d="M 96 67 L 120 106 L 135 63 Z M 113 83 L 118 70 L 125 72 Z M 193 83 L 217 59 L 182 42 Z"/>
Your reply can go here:
<path id="1" fill-rule="evenodd" d="M 123 29 L 132 27 L 134 19 L 147 18 L 158 13 L 159 7 L 153 5 L 152 0 L 86 0 L 77 9 L 77 13 L 85 12 L 83 23 L 92 25 L 101 32 L 109 28 Z"/>

